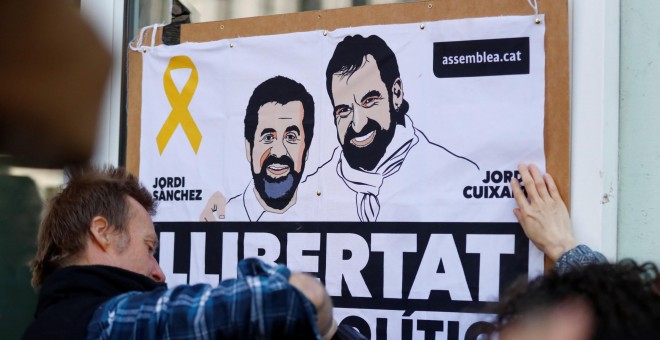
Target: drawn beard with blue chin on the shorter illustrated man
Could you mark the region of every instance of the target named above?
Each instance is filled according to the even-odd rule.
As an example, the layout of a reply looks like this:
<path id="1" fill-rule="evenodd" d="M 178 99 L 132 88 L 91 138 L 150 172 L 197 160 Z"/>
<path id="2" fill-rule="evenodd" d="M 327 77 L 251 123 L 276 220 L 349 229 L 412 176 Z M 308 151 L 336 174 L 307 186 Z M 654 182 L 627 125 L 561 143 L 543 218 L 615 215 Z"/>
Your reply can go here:
<path id="1" fill-rule="evenodd" d="M 287 165 L 289 173 L 278 178 L 270 177 L 267 168 L 273 164 Z M 300 183 L 300 177 L 300 173 L 293 169 L 293 160 L 288 156 L 275 157 L 270 155 L 262 164 L 260 173 L 255 174 L 252 172 L 257 193 L 266 205 L 277 210 L 284 209 L 291 202 L 298 188 L 298 183 Z"/>

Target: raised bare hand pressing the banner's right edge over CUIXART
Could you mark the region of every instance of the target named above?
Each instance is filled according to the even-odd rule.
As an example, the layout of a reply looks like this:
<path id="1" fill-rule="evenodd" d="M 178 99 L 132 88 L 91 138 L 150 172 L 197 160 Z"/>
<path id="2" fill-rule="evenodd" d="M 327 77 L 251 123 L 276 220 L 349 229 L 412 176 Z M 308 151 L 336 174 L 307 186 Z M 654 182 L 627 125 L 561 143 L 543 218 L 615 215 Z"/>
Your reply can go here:
<path id="1" fill-rule="evenodd" d="M 541 175 L 534 164 L 520 164 L 518 171 L 527 196 L 513 178 L 513 196 L 519 206 L 513 213 L 534 245 L 553 262 L 557 261 L 563 253 L 577 246 L 568 209 L 550 174 Z"/>

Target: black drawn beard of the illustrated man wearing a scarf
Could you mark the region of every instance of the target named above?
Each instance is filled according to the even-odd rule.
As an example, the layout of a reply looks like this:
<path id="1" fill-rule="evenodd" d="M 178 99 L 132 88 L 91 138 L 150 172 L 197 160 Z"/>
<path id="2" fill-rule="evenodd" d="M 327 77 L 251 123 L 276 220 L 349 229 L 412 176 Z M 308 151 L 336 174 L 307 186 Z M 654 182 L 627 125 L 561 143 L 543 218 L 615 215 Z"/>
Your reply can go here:
<path id="1" fill-rule="evenodd" d="M 348 162 L 348 165 L 353 169 L 373 170 L 385 155 L 387 146 L 390 145 L 392 138 L 394 138 L 395 129 L 396 122 L 394 119 L 390 119 L 390 126 L 387 130 L 383 130 L 380 124 L 375 120 L 371 120 L 371 118 L 367 119 L 367 124 L 362 128 L 360 134 L 355 132 L 352 126 L 349 126 L 344 135 L 344 145 L 342 145 L 344 158 Z M 353 138 L 364 136 L 372 131 L 375 131 L 376 135 L 369 145 L 358 147 L 351 143 Z"/>

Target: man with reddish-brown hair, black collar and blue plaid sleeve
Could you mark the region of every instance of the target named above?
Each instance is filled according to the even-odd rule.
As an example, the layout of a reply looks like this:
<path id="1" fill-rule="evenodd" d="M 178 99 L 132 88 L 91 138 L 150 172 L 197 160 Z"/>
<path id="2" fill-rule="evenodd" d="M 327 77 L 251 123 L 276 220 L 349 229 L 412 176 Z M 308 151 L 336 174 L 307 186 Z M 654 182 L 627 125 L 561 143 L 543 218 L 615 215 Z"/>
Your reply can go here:
<path id="1" fill-rule="evenodd" d="M 321 338 L 332 302 L 313 277 L 255 259 L 217 287 L 168 289 L 156 258 L 154 201 L 120 168 L 77 170 L 39 227 L 24 339 Z"/>

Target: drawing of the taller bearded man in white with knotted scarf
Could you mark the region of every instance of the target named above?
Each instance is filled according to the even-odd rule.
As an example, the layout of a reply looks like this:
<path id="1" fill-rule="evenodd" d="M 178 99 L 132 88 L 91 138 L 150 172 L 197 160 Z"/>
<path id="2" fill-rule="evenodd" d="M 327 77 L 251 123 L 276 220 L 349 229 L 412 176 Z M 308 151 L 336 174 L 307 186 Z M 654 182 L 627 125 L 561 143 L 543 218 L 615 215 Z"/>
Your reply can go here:
<path id="1" fill-rule="evenodd" d="M 385 41 L 375 35 L 344 38 L 328 63 L 326 87 L 341 152 L 336 149 L 323 167 L 334 164 L 338 178 L 355 192 L 359 220 L 451 220 L 453 202 L 462 199 L 459 177 L 472 177 L 479 167 L 413 126 L 396 56 Z M 330 219 L 346 216 L 336 213 L 337 203 L 325 204 Z"/>

